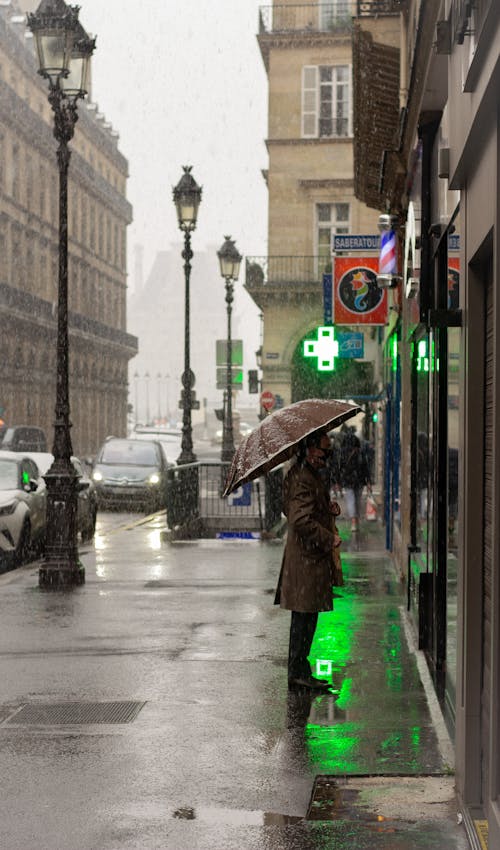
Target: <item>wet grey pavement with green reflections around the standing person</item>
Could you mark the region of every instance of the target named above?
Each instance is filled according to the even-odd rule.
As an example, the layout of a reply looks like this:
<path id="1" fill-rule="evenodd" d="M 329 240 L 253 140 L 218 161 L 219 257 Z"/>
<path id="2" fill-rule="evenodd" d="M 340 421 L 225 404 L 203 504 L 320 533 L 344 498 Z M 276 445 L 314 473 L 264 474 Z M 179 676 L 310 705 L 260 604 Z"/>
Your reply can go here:
<path id="1" fill-rule="evenodd" d="M 316 697 L 287 690 L 282 543 L 161 529 L 105 517 L 71 594 L 0 577 L 2 846 L 466 850 L 382 528 L 345 541 Z"/>

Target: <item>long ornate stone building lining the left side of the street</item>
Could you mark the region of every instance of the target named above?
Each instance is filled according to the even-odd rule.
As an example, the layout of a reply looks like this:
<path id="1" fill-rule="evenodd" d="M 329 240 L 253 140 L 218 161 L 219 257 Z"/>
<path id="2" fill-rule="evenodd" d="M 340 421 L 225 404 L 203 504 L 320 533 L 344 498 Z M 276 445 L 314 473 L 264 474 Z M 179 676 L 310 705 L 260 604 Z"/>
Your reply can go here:
<path id="1" fill-rule="evenodd" d="M 24 9 L 26 3 L 24 3 Z M 118 134 L 81 101 L 69 171 L 70 402 L 75 453 L 126 433 L 128 164 Z M 15 3 L 0 6 L 0 407 L 52 439 L 59 176 L 47 86 Z"/>

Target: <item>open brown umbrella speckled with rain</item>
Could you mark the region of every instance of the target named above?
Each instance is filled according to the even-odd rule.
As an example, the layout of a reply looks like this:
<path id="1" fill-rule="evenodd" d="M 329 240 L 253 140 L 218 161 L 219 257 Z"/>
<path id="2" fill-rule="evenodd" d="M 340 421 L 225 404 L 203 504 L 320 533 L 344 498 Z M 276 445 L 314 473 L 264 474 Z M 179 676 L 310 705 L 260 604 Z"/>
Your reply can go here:
<path id="1" fill-rule="evenodd" d="M 359 410 L 346 401 L 308 398 L 266 416 L 236 449 L 222 495 L 228 496 L 241 484 L 288 460 L 304 437 L 315 431 L 330 431 Z"/>

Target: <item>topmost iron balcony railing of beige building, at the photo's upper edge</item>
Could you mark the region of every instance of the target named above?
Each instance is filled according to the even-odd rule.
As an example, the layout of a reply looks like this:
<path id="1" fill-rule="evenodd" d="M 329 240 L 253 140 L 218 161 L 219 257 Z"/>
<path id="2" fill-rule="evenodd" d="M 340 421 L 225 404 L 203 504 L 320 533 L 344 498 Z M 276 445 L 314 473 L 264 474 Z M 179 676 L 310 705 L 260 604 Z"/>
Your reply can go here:
<path id="1" fill-rule="evenodd" d="M 259 33 L 334 32 L 352 26 L 354 17 L 390 15 L 401 11 L 401 0 L 336 0 L 261 6 Z"/>

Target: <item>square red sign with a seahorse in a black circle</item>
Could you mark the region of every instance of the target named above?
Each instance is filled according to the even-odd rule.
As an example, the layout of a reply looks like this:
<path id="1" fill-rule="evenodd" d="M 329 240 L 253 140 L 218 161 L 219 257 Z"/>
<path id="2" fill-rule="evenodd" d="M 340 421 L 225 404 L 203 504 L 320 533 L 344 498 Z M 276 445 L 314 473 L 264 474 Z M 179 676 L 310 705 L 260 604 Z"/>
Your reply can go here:
<path id="1" fill-rule="evenodd" d="M 334 325 L 386 325 L 387 290 L 377 284 L 378 257 L 336 257 Z"/>

